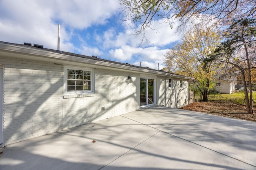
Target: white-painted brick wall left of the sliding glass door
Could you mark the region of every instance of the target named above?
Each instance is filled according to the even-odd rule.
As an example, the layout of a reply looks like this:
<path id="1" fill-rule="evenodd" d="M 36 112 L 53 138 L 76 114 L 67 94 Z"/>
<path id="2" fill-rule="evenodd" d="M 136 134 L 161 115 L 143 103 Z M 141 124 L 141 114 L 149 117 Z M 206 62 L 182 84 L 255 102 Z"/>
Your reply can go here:
<path id="1" fill-rule="evenodd" d="M 96 69 L 95 94 L 65 98 L 62 65 L 1 57 L 0 64 L 4 64 L 4 145 L 140 108 L 139 74 Z"/>

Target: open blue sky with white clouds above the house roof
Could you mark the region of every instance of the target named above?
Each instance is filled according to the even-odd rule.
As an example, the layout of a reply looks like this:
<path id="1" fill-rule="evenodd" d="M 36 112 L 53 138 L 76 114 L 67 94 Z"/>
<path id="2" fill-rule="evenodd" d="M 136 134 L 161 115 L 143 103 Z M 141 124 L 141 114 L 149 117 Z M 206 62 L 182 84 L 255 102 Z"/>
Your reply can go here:
<path id="1" fill-rule="evenodd" d="M 166 52 L 180 36 L 168 23 L 154 21 L 148 43 L 134 36 L 136 25 L 124 19 L 118 0 L 0 0 L 0 41 L 35 43 L 102 59 L 164 67 Z"/>

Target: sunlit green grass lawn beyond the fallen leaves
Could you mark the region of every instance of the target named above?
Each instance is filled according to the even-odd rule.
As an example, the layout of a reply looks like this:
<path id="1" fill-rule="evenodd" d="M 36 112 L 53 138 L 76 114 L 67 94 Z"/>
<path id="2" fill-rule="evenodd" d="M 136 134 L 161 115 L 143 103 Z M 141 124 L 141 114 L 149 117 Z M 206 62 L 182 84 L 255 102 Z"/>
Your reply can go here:
<path id="1" fill-rule="evenodd" d="M 256 92 L 254 92 L 252 95 L 253 95 L 254 106 L 256 106 Z M 234 104 L 246 105 L 244 92 L 235 92 L 234 94 L 208 94 L 208 100 L 220 101 L 220 102 L 231 102 Z"/>

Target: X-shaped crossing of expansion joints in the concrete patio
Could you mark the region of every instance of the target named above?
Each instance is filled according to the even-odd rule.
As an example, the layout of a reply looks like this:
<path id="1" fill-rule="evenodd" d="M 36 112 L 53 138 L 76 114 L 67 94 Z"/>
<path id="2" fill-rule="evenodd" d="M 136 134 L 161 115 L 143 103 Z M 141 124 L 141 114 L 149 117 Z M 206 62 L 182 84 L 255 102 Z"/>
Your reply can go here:
<path id="1" fill-rule="evenodd" d="M 187 114 L 184 114 L 182 117 L 180 117 L 180 118 L 179 118 L 179 119 L 177 119 L 176 121 L 178 121 L 178 120 L 182 119 L 183 117 L 185 117 L 185 116 L 187 116 L 187 115 L 189 116 L 189 114 L 190 114 L 190 113 L 192 113 L 192 111 L 190 111 L 190 112 L 189 112 L 189 113 L 187 113 Z M 126 118 L 126 119 L 130 119 L 130 118 L 125 117 L 125 116 L 123 116 L 123 115 L 120 115 L 120 116 L 122 116 L 122 117 L 124 117 L 124 118 Z M 144 123 L 142 123 L 142 122 L 139 122 L 139 121 L 136 121 L 136 120 L 134 120 L 134 119 L 130 119 L 130 120 L 135 121 L 135 122 L 137 122 L 137 123 L 140 123 L 140 124 L 142 124 L 142 125 L 146 125 L 146 124 L 144 124 Z M 163 131 L 163 130 L 164 130 L 164 129 L 166 129 L 168 126 L 170 126 L 170 125 L 174 124 L 176 121 L 174 121 L 174 122 L 172 122 L 172 123 L 170 123 L 170 124 L 166 125 L 166 127 L 164 127 L 163 129 L 157 129 L 157 128 L 152 127 L 152 126 L 150 126 L 150 125 L 146 125 L 146 126 L 148 126 L 148 127 L 151 127 L 151 128 L 153 128 L 153 129 L 158 130 L 158 132 L 156 132 L 154 135 L 156 135 L 156 134 L 157 134 L 157 133 L 159 133 L 159 132 L 163 132 L 163 133 L 166 133 L 166 134 L 171 135 L 171 136 L 173 136 L 173 137 L 177 137 L 177 138 L 182 139 L 182 140 L 184 140 L 184 141 L 187 141 L 187 142 L 193 143 L 193 144 L 195 144 L 195 145 L 198 145 L 198 146 L 200 146 L 200 147 L 203 147 L 203 148 L 205 148 L 205 149 L 211 150 L 211 151 L 216 152 L 216 153 L 218 153 L 218 154 L 222 154 L 222 155 L 224 155 L 224 156 L 228 156 L 227 154 L 224 154 L 224 153 L 218 152 L 218 151 L 216 151 L 216 150 L 210 149 L 210 148 L 205 147 L 205 146 L 203 146 L 203 145 L 200 145 L 200 144 L 198 144 L 198 143 L 195 143 L 195 142 L 189 141 L 189 140 L 184 139 L 184 138 L 182 138 L 182 137 L 178 137 L 178 136 L 176 136 L 176 135 L 173 135 L 173 134 L 171 134 L 171 133 L 168 133 L 168 132 Z M 152 135 L 151 137 L 153 137 L 154 135 Z M 148 139 L 150 139 L 151 137 L 149 137 Z M 145 141 L 147 141 L 148 139 L 146 139 L 146 140 L 142 141 L 142 142 L 141 142 L 141 143 L 139 143 L 138 145 L 140 145 L 140 144 L 144 143 L 144 142 L 145 142 Z M 136 145 L 136 146 L 135 146 L 135 147 L 133 147 L 132 149 L 136 148 L 138 145 Z M 130 150 L 132 150 L 132 149 L 130 149 Z M 130 150 L 128 150 L 127 152 L 129 152 Z M 126 154 L 127 152 L 125 152 L 124 154 Z M 122 154 L 121 156 L 123 156 L 124 154 Z M 119 156 L 119 157 L 121 157 L 121 156 Z M 118 157 L 118 158 L 119 158 L 119 157 Z M 243 160 L 240 160 L 240 159 L 238 159 L 238 158 L 234 158 L 234 157 L 232 157 L 232 156 L 228 156 L 228 157 L 229 157 L 229 158 L 232 158 L 232 159 L 235 159 L 235 160 L 238 160 L 238 161 L 240 161 L 240 162 L 243 162 L 243 163 L 245 163 L 245 164 L 248 164 L 248 165 L 250 165 L 250 166 L 256 167 L 255 165 L 249 164 L 248 162 L 244 162 Z M 118 158 L 116 158 L 116 159 L 118 159 Z M 115 159 L 115 160 L 116 160 L 116 159 Z M 113 160 L 113 161 L 114 161 L 114 160 Z M 112 162 L 113 162 L 113 161 L 112 161 Z M 111 162 L 110 162 L 110 163 L 111 163 Z M 110 163 L 109 163 L 109 164 L 110 164 Z M 102 168 L 103 168 L 103 167 L 102 167 Z"/>

